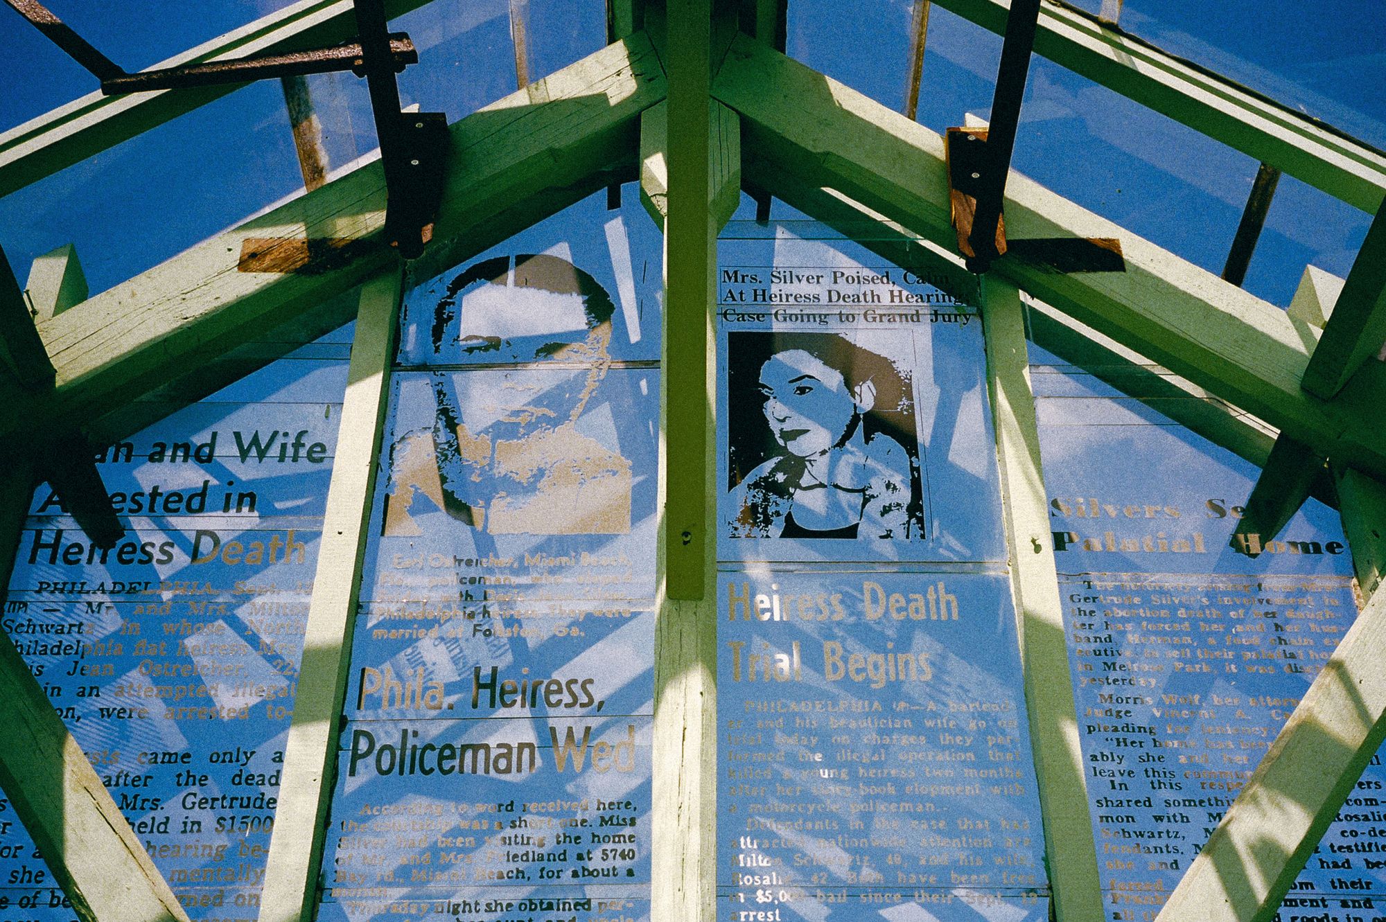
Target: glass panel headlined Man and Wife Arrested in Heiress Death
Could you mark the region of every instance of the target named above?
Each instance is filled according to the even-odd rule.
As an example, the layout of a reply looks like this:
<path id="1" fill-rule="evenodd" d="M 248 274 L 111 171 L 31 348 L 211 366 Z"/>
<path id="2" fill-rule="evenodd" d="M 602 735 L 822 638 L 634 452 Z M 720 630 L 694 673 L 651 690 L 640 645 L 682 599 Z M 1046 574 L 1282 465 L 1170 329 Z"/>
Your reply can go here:
<path id="1" fill-rule="evenodd" d="M 128 527 L 109 551 L 47 485 L 21 536 L 4 627 L 194 919 L 258 911 L 349 342 L 330 334 L 104 450 Z M 0 901 L 69 918 L 42 874 L 0 824 L 0 879 L 26 885 Z"/>

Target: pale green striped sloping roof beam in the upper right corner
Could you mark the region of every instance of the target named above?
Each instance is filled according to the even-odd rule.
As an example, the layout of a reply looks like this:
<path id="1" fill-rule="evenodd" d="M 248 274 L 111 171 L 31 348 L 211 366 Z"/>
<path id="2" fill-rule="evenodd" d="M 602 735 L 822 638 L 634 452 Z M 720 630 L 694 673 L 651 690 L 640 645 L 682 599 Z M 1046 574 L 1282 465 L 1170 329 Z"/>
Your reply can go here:
<path id="1" fill-rule="evenodd" d="M 1009 0 L 936 3 L 991 32 L 1005 32 Z M 1365 212 L 1375 213 L 1386 195 L 1380 151 L 1089 12 L 1045 3 L 1035 54 Z"/>

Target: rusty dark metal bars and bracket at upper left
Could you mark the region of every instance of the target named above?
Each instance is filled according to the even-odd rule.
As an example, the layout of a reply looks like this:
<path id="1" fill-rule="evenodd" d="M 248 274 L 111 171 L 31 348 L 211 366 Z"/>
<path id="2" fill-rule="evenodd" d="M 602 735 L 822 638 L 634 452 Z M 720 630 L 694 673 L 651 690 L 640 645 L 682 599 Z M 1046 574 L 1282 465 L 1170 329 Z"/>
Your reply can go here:
<path id="1" fill-rule="evenodd" d="M 107 96 L 195 86 L 248 83 L 270 78 L 351 71 L 366 78 L 376 137 L 385 172 L 385 238 L 405 259 L 416 259 L 432 238 L 442 202 L 448 119 L 442 112 L 405 112 L 395 75 L 419 62 L 403 32 L 389 32 L 381 0 L 355 0 L 358 40 L 326 48 L 208 61 L 126 73 L 37 0 L 4 0 L 36 29 L 90 71 Z"/>

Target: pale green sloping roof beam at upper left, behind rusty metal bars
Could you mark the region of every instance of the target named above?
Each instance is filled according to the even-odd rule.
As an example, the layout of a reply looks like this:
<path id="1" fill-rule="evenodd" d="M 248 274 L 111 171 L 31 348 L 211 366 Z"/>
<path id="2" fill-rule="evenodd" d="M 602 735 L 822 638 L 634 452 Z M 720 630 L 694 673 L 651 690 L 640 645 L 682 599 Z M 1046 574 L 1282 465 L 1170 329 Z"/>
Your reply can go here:
<path id="1" fill-rule="evenodd" d="M 385 0 L 385 12 L 395 18 L 427 1 Z M 301 0 L 154 66 L 297 51 L 346 42 L 355 35 L 351 0 Z M 0 134 L 0 195 L 36 183 L 241 86 L 233 83 L 129 96 L 101 96 L 97 90 L 30 119 Z"/>

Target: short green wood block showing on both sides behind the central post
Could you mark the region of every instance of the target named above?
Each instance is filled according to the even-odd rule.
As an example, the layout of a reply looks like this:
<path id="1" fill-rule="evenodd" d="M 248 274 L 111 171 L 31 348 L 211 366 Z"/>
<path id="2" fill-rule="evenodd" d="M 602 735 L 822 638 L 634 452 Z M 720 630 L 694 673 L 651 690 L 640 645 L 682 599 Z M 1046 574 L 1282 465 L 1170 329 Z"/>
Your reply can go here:
<path id="1" fill-rule="evenodd" d="M 708 100 L 708 209 L 721 230 L 742 204 L 742 119 L 717 100 Z M 668 126 L 668 102 L 640 114 L 640 204 L 660 227 L 669 210 Z"/>

